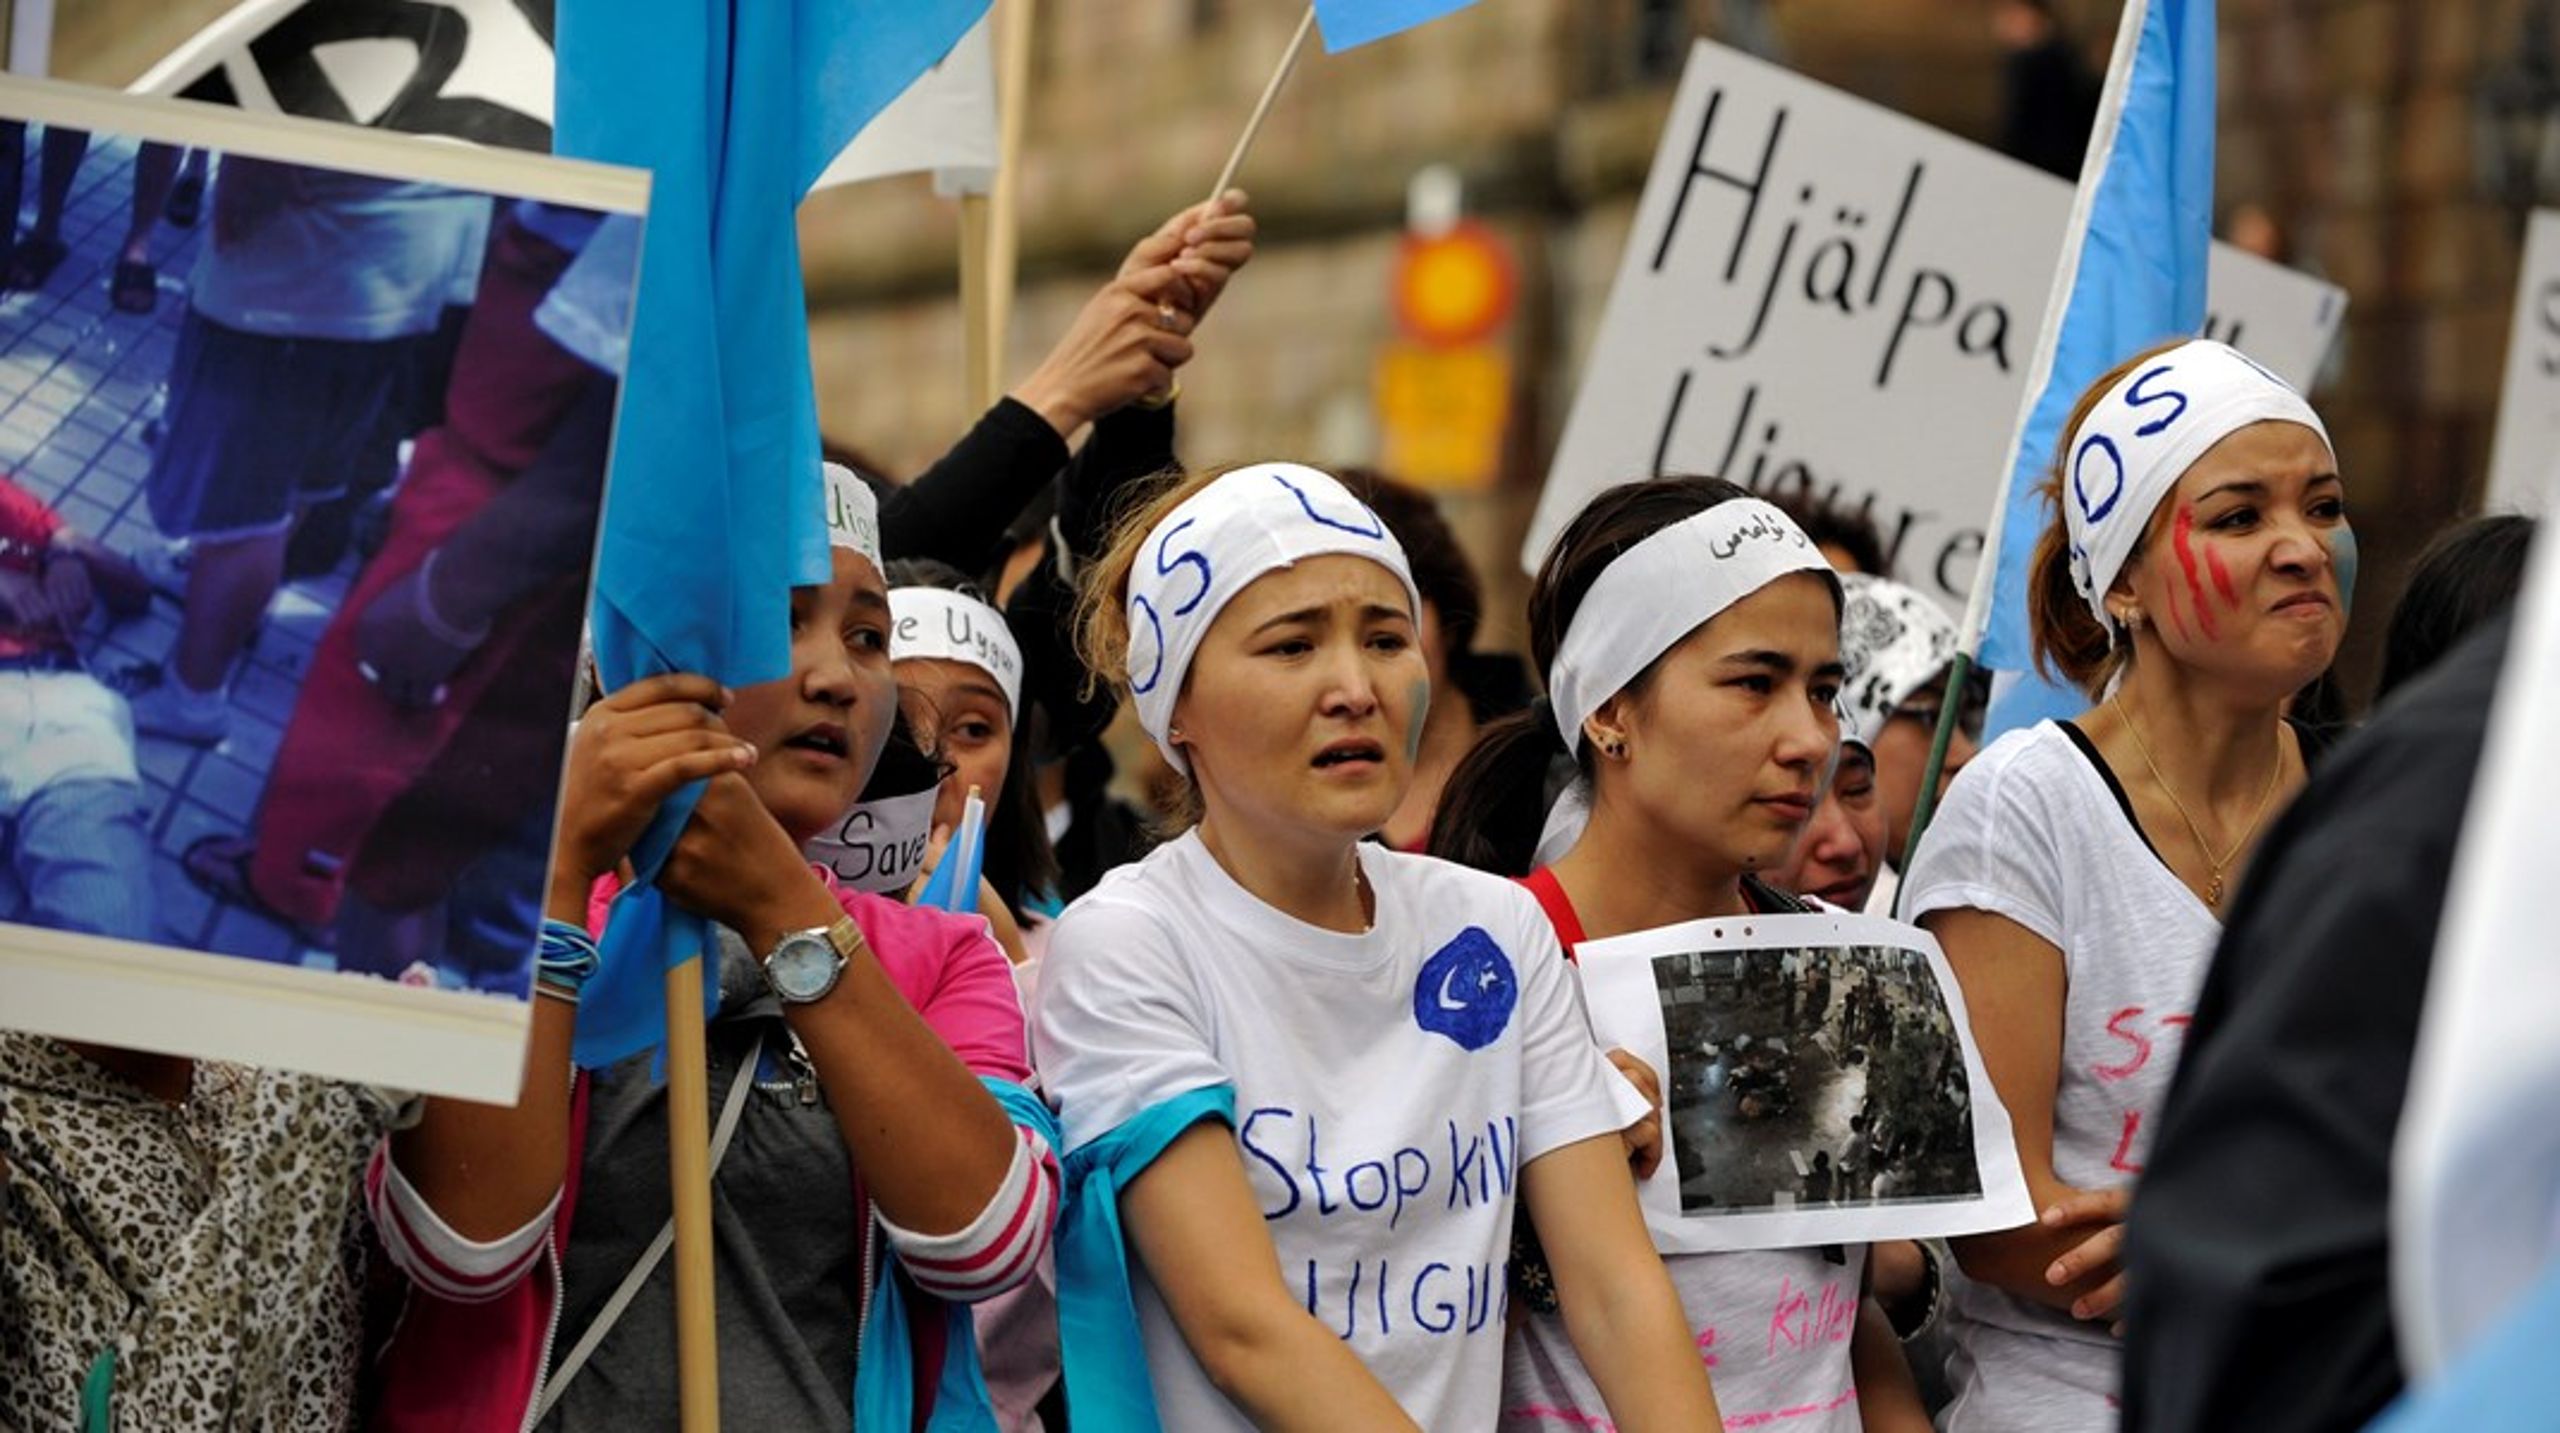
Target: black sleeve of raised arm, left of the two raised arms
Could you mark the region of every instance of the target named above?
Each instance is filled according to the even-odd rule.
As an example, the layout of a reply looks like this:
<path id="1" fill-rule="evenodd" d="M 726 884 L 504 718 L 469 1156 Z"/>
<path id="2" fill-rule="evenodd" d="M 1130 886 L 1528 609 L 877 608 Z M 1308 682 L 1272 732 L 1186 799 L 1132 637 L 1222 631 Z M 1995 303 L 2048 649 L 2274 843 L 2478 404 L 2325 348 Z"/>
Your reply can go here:
<path id="1" fill-rule="evenodd" d="M 1068 440 L 1029 407 L 996 399 L 916 481 L 881 499 L 881 555 L 986 571 L 1004 527 L 1068 466 Z"/>

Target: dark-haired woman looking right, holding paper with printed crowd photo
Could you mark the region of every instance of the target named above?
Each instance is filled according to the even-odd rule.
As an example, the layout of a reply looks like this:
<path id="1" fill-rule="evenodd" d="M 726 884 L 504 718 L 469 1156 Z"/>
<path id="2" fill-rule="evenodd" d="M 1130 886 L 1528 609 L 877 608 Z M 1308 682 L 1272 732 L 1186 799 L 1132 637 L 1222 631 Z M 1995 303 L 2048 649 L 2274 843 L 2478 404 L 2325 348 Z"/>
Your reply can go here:
<path id="1" fill-rule="evenodd" d="M 1805 908 L 1761 875 L 1787 865 L 1838 750 L 1841 583 L 1784 512 L 1720 479 L 1603 491 L 1539 568 L 1528 642 L 1549 696 L 1490 727 L 1449 778 L 1434 852 L 1523 873 L 1567 952 Z M 1539 796 L 1559 755 L 1580 768 L 1590 816 L 1562 857 L 1531 870 Z M 1638 1167 L 1659 1157 L 1654 1136 Z M 1820 1159 L 1828 1175 L 1830 1154 Z M 1661 1264 L 1728 1428 L 1928 1430 L 1892 1326 L 1861 1297 L 1864 1244 Z M 1536 1277 L 1523 1292 L 1500 1428 L 1597 1428 L 1567 1323 Z M 1789 1308 L 1812 1305 L 1856 1315 L 1800 1336 Z"/>

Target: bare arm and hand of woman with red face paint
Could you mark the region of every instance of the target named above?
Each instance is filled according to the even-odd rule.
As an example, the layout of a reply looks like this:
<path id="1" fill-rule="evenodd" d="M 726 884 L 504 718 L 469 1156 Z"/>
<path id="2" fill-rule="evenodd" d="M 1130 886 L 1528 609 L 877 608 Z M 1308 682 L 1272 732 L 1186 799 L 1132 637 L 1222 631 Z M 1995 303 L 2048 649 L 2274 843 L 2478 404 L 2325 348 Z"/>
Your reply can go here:
<path id="1" fill-rule="evenodd" d="M 1933 911 L 1920 921 L 1946 949 L 1981 1047 L 1981 1067 L 2010 1111 L 2017 1164 L 2038 1223 L 1956 1239 L 1966 1277 L 2074 1318 L 2115 1318 L 2125 1190 L 2079 1190 L 2053 1172 L 2053 1093 L 2061 1088 L 2063 952 L 2007 916 Z"/>

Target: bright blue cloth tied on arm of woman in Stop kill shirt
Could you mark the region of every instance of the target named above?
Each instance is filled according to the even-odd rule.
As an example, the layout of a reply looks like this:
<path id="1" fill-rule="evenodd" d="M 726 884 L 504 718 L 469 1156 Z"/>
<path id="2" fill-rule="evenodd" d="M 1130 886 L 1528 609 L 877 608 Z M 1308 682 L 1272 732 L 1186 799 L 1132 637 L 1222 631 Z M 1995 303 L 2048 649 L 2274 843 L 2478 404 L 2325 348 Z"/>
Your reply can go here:
<path id="1" fill-rule="evenodd" d="M 1165 1146 L 1203 1118 L 1236 1123 L 1234 1085 L 1208 1085 L 1149 1105 L 1065 1159 L 1057 1228 L 1057 1349 L 1068 1407 L 1083 1428 L 1160 1433 L 1147 1343 L 1139 1338 L 1121 1239 L 1119 1195 Z"/>

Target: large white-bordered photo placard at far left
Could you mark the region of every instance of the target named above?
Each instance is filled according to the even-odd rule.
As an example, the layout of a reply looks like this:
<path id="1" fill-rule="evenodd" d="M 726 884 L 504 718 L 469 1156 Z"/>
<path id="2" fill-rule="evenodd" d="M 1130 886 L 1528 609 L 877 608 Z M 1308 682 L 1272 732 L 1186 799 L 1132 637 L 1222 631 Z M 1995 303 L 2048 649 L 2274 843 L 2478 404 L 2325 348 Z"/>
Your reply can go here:
<path id="1" fill-rule="evenodd" d="M 46 855 L 0 1024 L 512 1100 L 648 177 L 67 84 L 0 118 L 113 194 L 0 297 L 0 844 Z M 151 146 L 215 156 L 207 215 L 108 305 Z M 187 699 L 195 566 L 259 542 L 289 573 Z"/>

